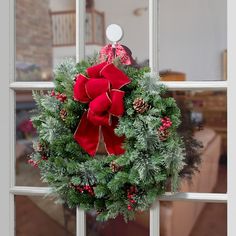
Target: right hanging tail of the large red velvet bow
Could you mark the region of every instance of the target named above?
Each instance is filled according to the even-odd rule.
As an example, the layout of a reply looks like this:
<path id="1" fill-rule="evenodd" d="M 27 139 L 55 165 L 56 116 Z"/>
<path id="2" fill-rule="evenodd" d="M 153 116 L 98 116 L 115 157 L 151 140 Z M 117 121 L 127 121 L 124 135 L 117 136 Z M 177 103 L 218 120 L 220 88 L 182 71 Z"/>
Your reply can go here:
<path id="1" fill-rule="evenodd" d="M 114 131 L 117 123 L 113 119 L 112 126 L 102 126 L 104 144 L 109 155 L 122 155 L 125 153 L 125 149 L 122 147 L 125 137 L 117 136 Z"/>

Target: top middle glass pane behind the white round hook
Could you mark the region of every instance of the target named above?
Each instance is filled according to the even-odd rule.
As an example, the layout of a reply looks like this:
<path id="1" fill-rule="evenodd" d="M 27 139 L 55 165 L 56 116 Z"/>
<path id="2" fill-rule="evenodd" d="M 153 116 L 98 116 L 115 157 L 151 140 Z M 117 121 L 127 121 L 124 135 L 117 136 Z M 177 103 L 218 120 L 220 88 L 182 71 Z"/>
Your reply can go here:
<path id="1" fill-rule="evenodd" d="M 98 52 L 109 43 L 105 30 L 118 24 L 124 31 L 121 44 L 132 51 L 133 58 L 141 65 L 148 65 L 148 1 L 95 0 L 87 6 L 86 55 Z"/>

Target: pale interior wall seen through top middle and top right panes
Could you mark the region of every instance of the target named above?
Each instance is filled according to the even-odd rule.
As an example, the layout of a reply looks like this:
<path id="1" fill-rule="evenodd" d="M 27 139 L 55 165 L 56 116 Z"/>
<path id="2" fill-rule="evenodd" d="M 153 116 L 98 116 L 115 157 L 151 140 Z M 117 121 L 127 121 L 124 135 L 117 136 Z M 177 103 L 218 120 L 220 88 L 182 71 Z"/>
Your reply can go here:
<path id="1" fill-rule="evenodd" d="M 138 58 L 148 58 L 147 0 L 95 0 L 106 25 L 120 24 L 122 43 Z M 188 80 L 221 80 L 226 49 L 226 0 L 160 0 L 160 69 L 185 72 Z"/>

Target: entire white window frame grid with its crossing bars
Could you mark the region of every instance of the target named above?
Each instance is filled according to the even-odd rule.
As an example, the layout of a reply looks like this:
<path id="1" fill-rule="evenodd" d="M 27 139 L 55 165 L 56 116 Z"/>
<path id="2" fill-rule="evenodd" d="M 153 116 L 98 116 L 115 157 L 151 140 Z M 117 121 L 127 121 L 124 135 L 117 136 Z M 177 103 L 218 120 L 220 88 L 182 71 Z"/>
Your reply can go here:
<path id="1" fill-rule="evenodd" d="M 1 165 L 0 165 L 0 219 L 1 234 L 6 236 L 15 235 L 15 206 L 14 196 L 44 196 L 48 193 L 47 187 L 24 187 L 15 186 L 15 91 L 32 89 L 53 88 L 52 82 L 15 82 L 15 14 L 14 0 L 0 1 L 0 60 L 1 60 L 1 99 L 0 115 L 1 126 Z M 149 0 L 149 58 L 153 73 L 158 73 L 158 12 L 159 0 Z M 228 18 L 228 80 L 216 82 L 165 82 L 172 90 L 227 90 L 228 99 L 228 172 L 227 172 L 227 193 L 166 193 L 161 196 L 150 209 L 150 236 L 159 236 L 160 222 L 160 201 L 194 201 L 194 202 L 214 202 L 227 203 L 227 232 L 229 236 L 236 233 L 236 27 L 235 12 L 236 1 L 227 1 Z M 76 58 L 77 61 L 84 58 L 84 17 L 85 0 L 76 0 Z M 127 33 L 127 32 L 126 32 Z M 77 208 L 76 211 L 77 236 L 85 236 L 85 212 Z"/>

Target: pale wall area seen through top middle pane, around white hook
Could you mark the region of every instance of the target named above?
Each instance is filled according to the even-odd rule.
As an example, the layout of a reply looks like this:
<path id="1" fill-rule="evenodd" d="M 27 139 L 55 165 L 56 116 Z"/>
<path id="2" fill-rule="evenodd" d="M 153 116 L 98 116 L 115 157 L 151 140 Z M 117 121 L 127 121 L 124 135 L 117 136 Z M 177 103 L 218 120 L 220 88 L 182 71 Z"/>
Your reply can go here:
<path id="1" fill-rule="evenodd" d="M 105 12 L 105 27 L 119 24 L 124 30 L 121 43 L 129 47 L 139 61 L 148 58 L 148 11 L 133 15 L 134 9 L 147 7 L 147 0 L 95 0 L 95 8 Z"/>

